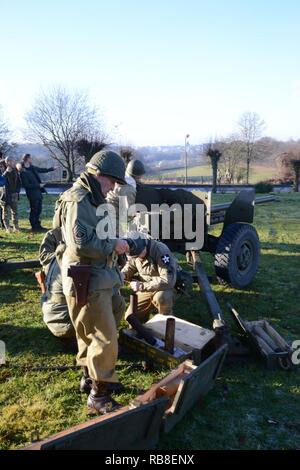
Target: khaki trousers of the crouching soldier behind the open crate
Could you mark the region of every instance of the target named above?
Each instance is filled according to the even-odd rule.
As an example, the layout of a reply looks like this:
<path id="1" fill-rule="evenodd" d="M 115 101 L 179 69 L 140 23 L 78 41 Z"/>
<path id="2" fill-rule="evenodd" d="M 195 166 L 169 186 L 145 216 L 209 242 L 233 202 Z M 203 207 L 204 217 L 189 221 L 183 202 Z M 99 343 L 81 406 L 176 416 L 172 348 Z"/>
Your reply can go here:
<path id="1" fill-rule="evenodd" d="M 173 289 L 160 290 L 155 292 L 137 292 L 137 318 L 145 323 L 149 320 L 150 310 L 155 307 L 162 315 L 173 314 Z M 130 307 L 126 310 L 125 318 L 130 315 Z"/>

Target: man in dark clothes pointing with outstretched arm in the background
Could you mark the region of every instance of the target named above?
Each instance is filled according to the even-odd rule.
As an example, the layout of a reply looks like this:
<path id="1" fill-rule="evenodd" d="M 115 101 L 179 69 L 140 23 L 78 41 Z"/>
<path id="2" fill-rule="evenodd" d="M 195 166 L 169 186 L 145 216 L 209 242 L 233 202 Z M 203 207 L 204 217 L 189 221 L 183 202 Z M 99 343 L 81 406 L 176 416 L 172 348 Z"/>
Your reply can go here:
<path id="1" fill-rule="evenodd" d="M 32 158 L 29 153 L 23 156 L 23 168 L 21 172 L 22 185 L 26 190 L 26 196 L 30 204 L 29 222 L 33 232 L 45 231 L 41 226 L 40 216 L 42 212 L 43 194 L 45 193 L 45 184 L 41 182 L 39 173 L 48 173 L 55 168 L 39 168 L 32 164 Z"/>

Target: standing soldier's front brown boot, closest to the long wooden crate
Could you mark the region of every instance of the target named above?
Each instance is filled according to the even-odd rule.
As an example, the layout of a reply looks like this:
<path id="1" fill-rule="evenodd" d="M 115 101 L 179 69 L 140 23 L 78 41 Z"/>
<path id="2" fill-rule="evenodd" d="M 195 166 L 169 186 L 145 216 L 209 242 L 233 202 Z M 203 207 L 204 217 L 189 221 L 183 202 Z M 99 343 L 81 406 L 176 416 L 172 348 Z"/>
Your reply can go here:
<path id="1" fill-rule="evenodd" d="M 105 382 L 92 381 L 92 390 L 88 396 L 87 406 L 89 412 L 96 411 L 104 415 L 116 411 L 121 407 L 110 395 Z"/>

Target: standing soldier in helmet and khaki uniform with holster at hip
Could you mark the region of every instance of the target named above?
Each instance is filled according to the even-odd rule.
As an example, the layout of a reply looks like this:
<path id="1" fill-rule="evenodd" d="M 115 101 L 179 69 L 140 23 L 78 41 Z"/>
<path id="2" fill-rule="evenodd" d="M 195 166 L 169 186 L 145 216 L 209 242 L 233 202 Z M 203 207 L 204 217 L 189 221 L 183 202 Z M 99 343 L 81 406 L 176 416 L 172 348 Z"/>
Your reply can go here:
<path id="1" fill-rule="evenodd" d="M 125 164 L 117 153 L 97 152 L 72 188 L 60 196 L 53 220 L 54 228 L 61 227 L 65 243 L 63 292 L 76 331 L 77 362 L 92 381 L 87 404 L 101 414 L 118 406 L 110 395 L 114 385 L 119 389 L 112 295 L 122 285 L 115 259 L 129 246 L 125 240 L 99 233 L 97 224 L 103 217 L 97 215 L 97 208 L 106 203 L 115 183 L 125 184 L 124 177 Z"/>

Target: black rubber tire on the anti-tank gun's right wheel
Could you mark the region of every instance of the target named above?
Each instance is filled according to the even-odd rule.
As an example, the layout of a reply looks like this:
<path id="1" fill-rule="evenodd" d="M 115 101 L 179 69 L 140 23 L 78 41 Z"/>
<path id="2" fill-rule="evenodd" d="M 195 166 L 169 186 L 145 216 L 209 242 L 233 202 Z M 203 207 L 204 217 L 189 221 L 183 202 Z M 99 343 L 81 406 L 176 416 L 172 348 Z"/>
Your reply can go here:
<path id="1" fill-rule="evenodd" d="M 246 268 L 240 269 L 238 256 L 241 246 L 250 252 L 250 261 Z M 255 228 L 249 224 L 235 223 L 228 225 L 219 238 L 215 252 L 215 271 L 220 284 L 243 289 L 254 278 L 259 263 L 260 243 Z"/>

